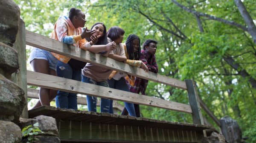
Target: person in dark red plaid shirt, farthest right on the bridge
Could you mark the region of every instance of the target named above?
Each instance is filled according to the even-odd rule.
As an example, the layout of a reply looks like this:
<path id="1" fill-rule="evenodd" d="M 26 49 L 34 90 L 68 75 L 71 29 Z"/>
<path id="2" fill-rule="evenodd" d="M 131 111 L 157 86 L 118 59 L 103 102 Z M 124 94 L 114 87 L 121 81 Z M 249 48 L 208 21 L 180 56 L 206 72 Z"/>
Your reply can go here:
<path id="1" fill-rule="evenodd" d="M 140 60 L 148 67 L 148 70 L 154 73 L 158 73 L 158 66 L 156 62 L 155 53 L 157 51 L 157 41 L 147 39 L 143 43 L 143 50 L 140 52 Z M 134 86 L 130 86 L 130 91 L 132 93 L 141 93 L 145 95 L 145 90 L 148 85 L 148 80 L 140 79 L 135 77 Z M 136 117 L 140 117 L 140 106 L 139 104 L 134 104 L 134 109 L 136 111 Z M 127 109 L 122 110 L 122 115 L 128 115 Z"/>

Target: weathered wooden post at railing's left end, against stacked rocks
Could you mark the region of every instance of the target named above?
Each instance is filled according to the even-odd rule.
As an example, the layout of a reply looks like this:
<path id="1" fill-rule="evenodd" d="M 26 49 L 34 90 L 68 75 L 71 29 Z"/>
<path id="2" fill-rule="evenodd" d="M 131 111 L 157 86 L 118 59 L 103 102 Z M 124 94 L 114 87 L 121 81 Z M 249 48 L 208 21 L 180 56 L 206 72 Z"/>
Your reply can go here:
<path id="1" fill-rule="evenodd" d="M 22 112 L 22 118 L 29 118 L 28 106 L 27 106 L 27 82 L 26 82 L 26 35 L 25 35 L 25 23 L 20 19 L 19 31 L 17 33 L 16 41 L 13 44 L 13 48 L 18 52 L 20 68 L 12 74 L 12 81 L 19 85 L 26 98 L 26 106 Z"/>

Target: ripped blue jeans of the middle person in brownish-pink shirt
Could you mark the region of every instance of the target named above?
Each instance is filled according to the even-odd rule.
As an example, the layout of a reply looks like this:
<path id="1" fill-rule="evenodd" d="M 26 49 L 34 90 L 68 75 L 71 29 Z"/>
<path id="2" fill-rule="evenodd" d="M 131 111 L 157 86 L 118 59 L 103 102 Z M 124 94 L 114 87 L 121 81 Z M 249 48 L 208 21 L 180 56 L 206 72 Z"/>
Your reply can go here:
<path id="1" fill-rule="evenodd" d="M 93 79 L 90 79 L 86 76 L 82 75 L 82 82 L 85 83 L 89 83 L 89 84 L 95 84 L 95 85 L 99 85 L 102 87 L 108 87 L 108 81 L 95 81 Z M 88 107 L 88 111 L 92 111 L 92 112 L 97 112 L 96 109 L 96 105 L 97 105 L 97 97 L 94 96 L 89 96 L 87 95 L 86 97 L 87 100 L 87 107 Z M 100 102 L 100 112 L 109 112 L 109 105 L 110 105 L 110 100 L 109 99 L 105 99 L 105 98 L 101 98 L 101 102 Z"/>

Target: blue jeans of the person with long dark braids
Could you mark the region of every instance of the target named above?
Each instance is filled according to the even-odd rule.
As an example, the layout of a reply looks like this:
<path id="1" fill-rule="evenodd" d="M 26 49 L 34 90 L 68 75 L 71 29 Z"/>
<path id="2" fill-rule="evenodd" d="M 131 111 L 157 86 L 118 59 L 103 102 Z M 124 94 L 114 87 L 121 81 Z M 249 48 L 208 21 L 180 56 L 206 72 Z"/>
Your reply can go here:
<path id="1" fill-rule="evenodd" d="M 118 81 L 113 78 L 110 80 L 108 79 L 108 84 L 109 84 L 110 88 L 130 92 L 130 90 L 126 84 L 125 78 L 123 78 L 123 77 L 121 79 L 119 79 Z M 124 102 L 124 103 L 125 103 L 126 109 L 128 110 L 129 115 L 136 117 L 134 104 L 128 103 L 128 102 Z M 113 100 L 110 101 L 109 113 L 113 114 Z"/>

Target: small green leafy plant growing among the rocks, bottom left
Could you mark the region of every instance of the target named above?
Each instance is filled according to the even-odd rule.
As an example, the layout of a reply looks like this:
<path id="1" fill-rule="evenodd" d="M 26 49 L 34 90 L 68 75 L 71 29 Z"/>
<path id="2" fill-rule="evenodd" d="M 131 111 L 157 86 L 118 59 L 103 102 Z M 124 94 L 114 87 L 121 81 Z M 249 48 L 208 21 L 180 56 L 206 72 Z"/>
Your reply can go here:
<path id="1" fill-rule="evenodd" d="M 26 138 L 26 143 L 34 143 L 37 138 L 34 135 L 44 133 L 38 128 L 39 124 L 34 123 L 33 125 L 26 126 L 22 129 L 22 137 Z"/>

